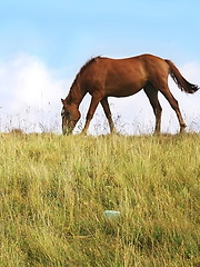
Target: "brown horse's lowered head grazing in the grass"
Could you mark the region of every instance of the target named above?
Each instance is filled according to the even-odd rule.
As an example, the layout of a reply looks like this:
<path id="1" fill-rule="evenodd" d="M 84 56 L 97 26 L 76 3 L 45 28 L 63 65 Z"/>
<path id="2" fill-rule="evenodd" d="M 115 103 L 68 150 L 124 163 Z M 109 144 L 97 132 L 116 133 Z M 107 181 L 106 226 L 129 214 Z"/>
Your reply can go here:
<path id="1" fill-rule="evenodd" d="M 62 101 L 62 111 L 61 111 L 61 117 L 62 117 L 62 134 L 63 135 L 70 135 L 72 134 L 77 121 L 80 119 L 80 111 L 76 107 L 76 105 L 67 103 L 66 100 L 61 99 Z"/>

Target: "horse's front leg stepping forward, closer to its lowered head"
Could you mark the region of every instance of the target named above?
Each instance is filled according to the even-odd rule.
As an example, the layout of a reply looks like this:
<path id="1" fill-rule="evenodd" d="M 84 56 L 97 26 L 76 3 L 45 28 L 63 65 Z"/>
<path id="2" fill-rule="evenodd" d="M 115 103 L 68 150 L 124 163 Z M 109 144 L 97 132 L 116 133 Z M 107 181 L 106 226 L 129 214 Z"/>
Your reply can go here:
<path id="1" fill-rule="evenodd" d="M 86 119 L 86 125 L 84 128 L 82 130 L 83 134 L 87 134 L 89 125 L 91 119 L 93 118 L 93 113 L 99 105 L 99 102 L 101 101 L 102 96 L 100 93 L 94 93 L 91 98 L 91 102 L 90 102 L 90 107 L 87 113 L 87 119 Z"/>

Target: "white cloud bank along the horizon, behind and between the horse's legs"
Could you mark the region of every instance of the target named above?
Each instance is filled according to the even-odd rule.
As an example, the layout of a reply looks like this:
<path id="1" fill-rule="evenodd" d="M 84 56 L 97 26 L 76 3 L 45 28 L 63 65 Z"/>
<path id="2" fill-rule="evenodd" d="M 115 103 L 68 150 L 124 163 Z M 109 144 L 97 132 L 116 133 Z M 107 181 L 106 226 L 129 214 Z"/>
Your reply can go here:
<path id="1" fill-rule="evenodd" d="M 200 63 L 191 62 L 180 68 L 181 73 L 192 83 L 200 86 Z M 21 127 L 26 131 L 53 129 L 61 132 L 60 98 L 66 97 L 70 79 L 60 79 L 52 70 L 37 57 L 20 53 L 8 62 L 0 62 L 0 130 L 12 127 Z M 176 83 L 169 79 L 169 86 L 173 96 L 179 101 L 180 109 L 190 130 L 200 130 L 200 91 L 194 95 L 181 92 Z M 176 132 L 179 130 L 178 119 L 167 100 L 159 96 L 162 112 L 162 131 Z M 90 102 L 87 97 L 81 103 L 82 118 L 86 117 Z M 129 98 L 110 98 L 111 110 L 117 121 L 118 129 L 129 134 L 152 132 L 154 116 L 144 92 L 141 91 Z M 90 132 L 100 129 L 106 117 L 102 109 L 98 108 L 92 120 Z M 83 123 L 83 119 L 80 123 Z M 100 132 L 101 130 L 98 130 Z"/>

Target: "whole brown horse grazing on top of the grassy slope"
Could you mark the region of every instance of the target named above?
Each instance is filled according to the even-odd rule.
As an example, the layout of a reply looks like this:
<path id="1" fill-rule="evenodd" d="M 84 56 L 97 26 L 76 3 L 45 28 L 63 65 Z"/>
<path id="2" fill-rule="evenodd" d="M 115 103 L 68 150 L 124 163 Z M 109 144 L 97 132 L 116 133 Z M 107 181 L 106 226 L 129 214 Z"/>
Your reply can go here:
<path id="1" fill-rule="evenodd" d="M 102 105 L 107 116 L 110 131 L 114 132 L 114 125 L 111 117 L 108 97 L 129 97 L 144 90 L 153 108 L 156 116 L 154 132 L 160 132 L 162 108 L 158 100 L 160 91 L 176 111 L 180 131 L 183 131 L 186 123 L 181 116 L 178 101 L 168 87 L 168 76 L 171 75 L 178 87 L 188 93 L 196 92 L 199 87 L 188 82 L 177 67 L 166 59 L 152 55 L 141 55 L 126 59 L 110 59 L 97 57 L 88 61 L 77 75 L 69 95 L 62 101 L 62 132 L 71 134 L 80 119 L 79 105 L 87 92 L 91 95 L 91 103 L 88 110 L 83 132 L 86 134 L 93 113 L 99 105 Z"/>

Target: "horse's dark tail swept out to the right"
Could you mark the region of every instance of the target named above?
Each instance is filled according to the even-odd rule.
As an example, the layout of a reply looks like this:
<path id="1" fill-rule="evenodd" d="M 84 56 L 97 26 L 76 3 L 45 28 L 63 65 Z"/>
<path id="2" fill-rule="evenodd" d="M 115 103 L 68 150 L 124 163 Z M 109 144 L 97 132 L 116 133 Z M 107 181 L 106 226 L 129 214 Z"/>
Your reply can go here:
<path id="1" fill-rule="evenodd" d="M 199 90 L 199 87 L 196 85 L 190 83 L 187 81 L 178 68 L 171 62 L 170 60 L 166 59 L 166 62 L 170 67 L 170 76 L 174 80 L 174 82 L 178 85 L 178 87 L 181 89 L 181 91 L 186 91 L 188 93 L 193 93 Z"/>

